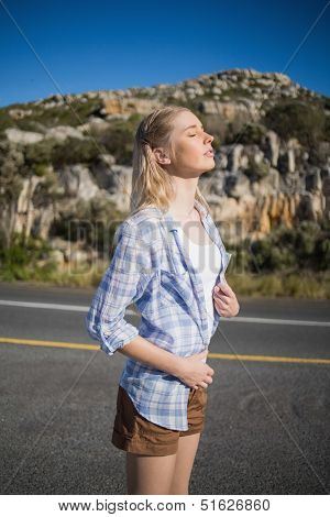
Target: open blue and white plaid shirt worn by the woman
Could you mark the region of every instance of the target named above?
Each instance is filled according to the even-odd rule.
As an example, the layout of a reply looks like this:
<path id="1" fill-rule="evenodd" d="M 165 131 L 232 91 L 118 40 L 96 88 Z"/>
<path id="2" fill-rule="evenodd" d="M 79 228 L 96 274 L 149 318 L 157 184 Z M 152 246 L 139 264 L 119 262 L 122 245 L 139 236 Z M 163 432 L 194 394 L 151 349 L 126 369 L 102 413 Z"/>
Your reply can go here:
<path id="1" fill-rule="evenodd" d="M 195 207 L 221 252 L 218 284 L 224 279 L 231 253 L 227 253 L 210 213 L 197 199 Z M 220 315 L 215 306 L 213 314 L 207 314 L 201 277 L 176 227 L 172 216 L 157 207 L 142 209 L 119 226 L 111 263 L 86 317 L 88 333 L 108 355 L 138 334 L 180 356 L 208 348 L 208 318 L 213 320 L 212 337 Z M 124 319 L 130 304 L 141 314 L 139 329 Z M 190 388 L 179 378 L 129 358 L 119 384 L 147 420 L 168 429 L 188 429 Z"/>

